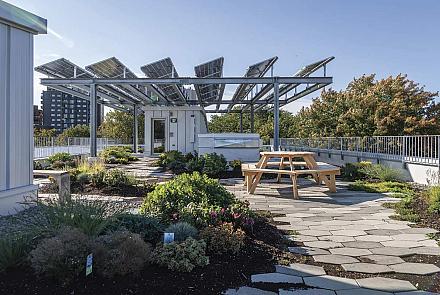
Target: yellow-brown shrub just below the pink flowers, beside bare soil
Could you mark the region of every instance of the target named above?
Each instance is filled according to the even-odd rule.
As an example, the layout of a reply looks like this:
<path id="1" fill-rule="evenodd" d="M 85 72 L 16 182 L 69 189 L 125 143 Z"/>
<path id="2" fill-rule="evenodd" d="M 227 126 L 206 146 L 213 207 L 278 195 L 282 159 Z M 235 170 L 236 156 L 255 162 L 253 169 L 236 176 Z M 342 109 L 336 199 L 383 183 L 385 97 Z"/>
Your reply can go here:
<path id="1" fill-rule="evenodd" d="M 213 254 L 237 254 L 244 246 L 246 234 L 235 229 L 232 223 L 205 227 L 200 231 L 200 238 L 206 241 L 208 252 Z"/>

